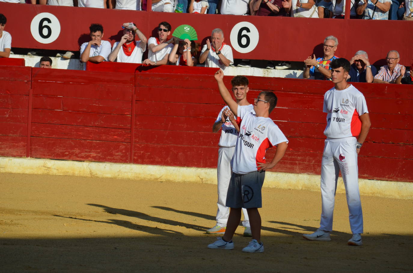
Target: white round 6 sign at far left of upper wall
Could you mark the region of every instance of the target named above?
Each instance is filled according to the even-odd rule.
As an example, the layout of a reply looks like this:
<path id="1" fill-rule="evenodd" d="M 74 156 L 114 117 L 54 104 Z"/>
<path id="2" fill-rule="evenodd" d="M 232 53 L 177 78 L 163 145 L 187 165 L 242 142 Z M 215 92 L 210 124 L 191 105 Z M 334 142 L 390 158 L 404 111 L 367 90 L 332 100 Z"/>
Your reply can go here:
<path id="1" fill-rule="evenodd" d="M 55 15 L 42 12 L 31 20 L 30 31 L 36 41 L 42 44 L 50 44 L 59 37 L 60 23 Z"/>

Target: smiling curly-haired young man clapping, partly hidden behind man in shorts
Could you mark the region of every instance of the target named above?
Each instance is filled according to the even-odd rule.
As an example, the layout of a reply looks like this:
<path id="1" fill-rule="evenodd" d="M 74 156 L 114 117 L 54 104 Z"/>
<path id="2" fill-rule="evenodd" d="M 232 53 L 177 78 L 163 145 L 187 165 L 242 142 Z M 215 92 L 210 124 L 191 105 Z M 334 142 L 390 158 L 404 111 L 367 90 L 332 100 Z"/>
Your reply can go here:
<path id="1" fill-rule="evenodd" d="M 239 108 L 245 108 L 246 111 L 254 111 L 254 106 L 247 101 L 248 83 L 247 77 L 235 76 L 231 80 L 232 91 Z M 227 118 L 229 118 L 229 121 Z M 235 123 L 235 118 L 228 106 L 224 106 L 212 126 L 212 132 L 214 133 L 218 132 L 219 129 L 222 130 L 218 143 L 218 167 L 216 169 L 218 174 L 218 211 L 216 212 L 216 225 L 207 230 L 209 234 L 224 234 L 230 213 L 230 209 L 225 206 L 225 203 L 232 173 L 231 159 L 234 155 L 235 142 L 240 131 L 240 127 Z M 242 209 L 242 212 L 244 213 L 244 221 L 242 221 L 244 236 L 251 237 L 247 209 Z"/>

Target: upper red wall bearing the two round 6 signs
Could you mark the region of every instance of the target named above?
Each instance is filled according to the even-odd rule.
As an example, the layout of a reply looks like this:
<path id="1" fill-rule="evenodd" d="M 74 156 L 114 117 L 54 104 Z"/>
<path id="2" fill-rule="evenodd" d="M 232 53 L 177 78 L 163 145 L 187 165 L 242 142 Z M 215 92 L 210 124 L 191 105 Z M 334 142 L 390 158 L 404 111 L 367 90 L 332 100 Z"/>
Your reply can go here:
<path id="1" fill-rule="evenodd" d="M 189 24 L 197 30 L 202 45 L 212 29 L 222 28 L 225 42 L 231 45 L 230 32 L 235 24 L 248 21 L 258 30 L 258 45 L 248 53 L 233 50 L 234 58 L 304 61 L 313 52 L 322 56 L 324 38 L 335 35 L 339 39 L 337 56 L 350 59 L 362 49 L 368 52 L 370 62 L 380 65 L 387 52 L 395 49 L 401 55 L 401 64 L 410 66 L 413 62 L 413 35 L 408 35 L 413 33 L 411 21 L 178 14 L 9 3 L 0 3 L 0 11 L 7 16 L 5 30 L 13 37 L 12 47 L 77 51 L 81 43 L 89 41 L 91 23 L 101 23 L 104 39 L 113 44 L 120 39 L 120 27 L 126 21 L 134 21 L 147 37 L 156 35 L 161 21 L 168 21 L 173 29 Z M 61 26 L 57 40 L 49 44 L 37 42 L 31 34 L 31 21 L 42 12 L 54 14 Z M 34 30 L 38 31 L 38 25 Z"/>

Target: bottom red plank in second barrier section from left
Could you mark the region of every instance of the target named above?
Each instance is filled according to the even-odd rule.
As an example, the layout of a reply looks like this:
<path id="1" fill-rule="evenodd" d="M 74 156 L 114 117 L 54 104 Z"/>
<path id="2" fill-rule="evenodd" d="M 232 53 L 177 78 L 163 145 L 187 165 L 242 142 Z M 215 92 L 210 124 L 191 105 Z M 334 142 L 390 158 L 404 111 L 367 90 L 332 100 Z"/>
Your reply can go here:
<path id="1" fill-rule="evenodd" d="M 31 156 L 33 158 L 127 163 L 129 144 L 31 137 Z"/>

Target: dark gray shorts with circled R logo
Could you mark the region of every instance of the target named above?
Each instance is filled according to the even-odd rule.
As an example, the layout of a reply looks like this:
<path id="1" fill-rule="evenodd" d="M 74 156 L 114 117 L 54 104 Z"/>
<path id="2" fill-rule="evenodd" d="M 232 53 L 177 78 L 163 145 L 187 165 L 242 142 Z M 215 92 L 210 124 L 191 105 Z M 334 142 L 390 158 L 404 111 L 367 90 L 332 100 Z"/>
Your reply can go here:
<path id="1" fill-rule="evenodd" d="M 232 173 L 227 193 L 227 207 L 262 207 L 261 188 L 265 172 Z"/>

